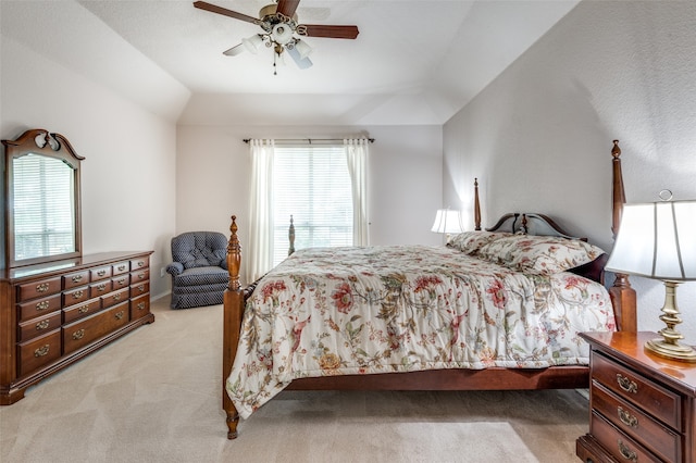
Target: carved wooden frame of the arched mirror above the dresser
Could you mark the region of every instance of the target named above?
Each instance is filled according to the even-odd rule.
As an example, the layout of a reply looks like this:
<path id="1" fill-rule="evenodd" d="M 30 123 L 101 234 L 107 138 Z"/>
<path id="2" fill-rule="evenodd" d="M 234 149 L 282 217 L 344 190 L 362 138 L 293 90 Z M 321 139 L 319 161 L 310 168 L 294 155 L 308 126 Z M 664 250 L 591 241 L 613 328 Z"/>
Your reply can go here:
<path id="1" fill-rule="evenodd" d="M 82 204 L 80 204 L 80 183 L 79 162 L 85 158 L 78 155 L 72 145 L 60 134 L 51 134 L 42 128 L 26 130 L 15 140 L 2 140 L 4 146 L 4 253 L 5 268 L 22 267 L 26 265 L 53 262 L 72 258 L 82 258 L 83 235 L 82 235 Z M 75 250 L 61 254 L 44 255 L 32 259 L 16 260 L 14 254 L 14 179 L 13 161 L 26 154 L 40 154 L 63 161 L 73 168 L 73 208 L 74 230 L 73 236 Z"/>

